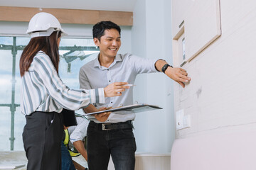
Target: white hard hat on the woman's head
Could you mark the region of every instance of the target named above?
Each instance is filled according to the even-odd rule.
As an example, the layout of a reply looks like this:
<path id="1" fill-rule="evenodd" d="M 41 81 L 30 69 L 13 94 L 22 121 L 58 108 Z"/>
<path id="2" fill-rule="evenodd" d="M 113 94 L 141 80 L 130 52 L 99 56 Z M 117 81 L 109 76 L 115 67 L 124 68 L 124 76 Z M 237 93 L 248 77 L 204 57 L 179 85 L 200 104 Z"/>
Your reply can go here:
<path id="1" fill-rule="evenodd" d="M 36 13 L 28 24 L 27 34 L 34 37 L 50 36 L 53 31 L 61 31 L 62 35 L 68 35 L 60 26 L 60 22 L 50 13 Z"/>

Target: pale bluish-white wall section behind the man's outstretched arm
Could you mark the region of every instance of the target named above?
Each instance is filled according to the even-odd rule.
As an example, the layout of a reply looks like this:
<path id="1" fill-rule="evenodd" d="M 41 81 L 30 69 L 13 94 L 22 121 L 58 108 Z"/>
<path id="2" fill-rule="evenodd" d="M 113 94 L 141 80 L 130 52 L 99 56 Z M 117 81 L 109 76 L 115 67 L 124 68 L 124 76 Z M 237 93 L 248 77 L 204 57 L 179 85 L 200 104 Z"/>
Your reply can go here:
<path id="1" fill-rule="evenodd" d="M 171 1 L 138 0 L 134 8 L 132 53 L 171 63 Z M 171 152 L 174 140 L 173 82 L 162 73 L 137 77 L 134 101 L 163 107 L 137 113 L 134 134 L 137 152 Z"/>

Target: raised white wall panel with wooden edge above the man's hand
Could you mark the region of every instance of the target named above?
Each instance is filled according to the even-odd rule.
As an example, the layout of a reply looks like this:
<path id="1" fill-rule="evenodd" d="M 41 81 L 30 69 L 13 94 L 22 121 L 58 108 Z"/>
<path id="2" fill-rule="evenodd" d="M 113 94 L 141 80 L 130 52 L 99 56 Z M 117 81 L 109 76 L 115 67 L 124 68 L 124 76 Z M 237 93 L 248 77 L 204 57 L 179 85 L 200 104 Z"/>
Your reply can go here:
<path id="1" fill-rule="evenodd" d="M 190 61 L 220 36 L 219 0 L 193 1 L 184 24 L 186 60 Z"/>

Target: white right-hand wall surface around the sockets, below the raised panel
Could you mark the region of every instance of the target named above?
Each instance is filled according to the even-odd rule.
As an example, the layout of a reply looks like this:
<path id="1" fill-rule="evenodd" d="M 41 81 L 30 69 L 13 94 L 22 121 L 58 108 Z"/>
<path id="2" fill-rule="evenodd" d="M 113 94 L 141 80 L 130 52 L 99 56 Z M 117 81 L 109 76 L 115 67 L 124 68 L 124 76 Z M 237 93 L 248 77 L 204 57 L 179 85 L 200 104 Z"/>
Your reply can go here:
<path id="1" fill-rule="evenodd" d="M 187 88 L 175 86 L 176 111 L 184 108 L 192 118 L 178 138 L 256 128 L 255 6 L 254 0 L 220 0 L 222 35 L 185 64 L 192 77 Z"/>

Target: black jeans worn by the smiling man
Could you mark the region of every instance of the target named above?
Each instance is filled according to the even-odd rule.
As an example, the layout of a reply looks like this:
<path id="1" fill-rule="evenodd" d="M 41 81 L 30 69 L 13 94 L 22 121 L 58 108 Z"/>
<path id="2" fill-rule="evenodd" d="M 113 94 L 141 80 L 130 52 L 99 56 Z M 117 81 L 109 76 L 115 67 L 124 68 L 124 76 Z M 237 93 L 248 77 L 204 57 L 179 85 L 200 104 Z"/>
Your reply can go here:
<path id="1" fill-rule="evenodd" d="M 87 128 L 87 154 L 90 170 L 107 170 L 110 155 L 116 170 L 134 170 L 137 149 L 132 128 L 100 130 L 90 121 Z"/>

